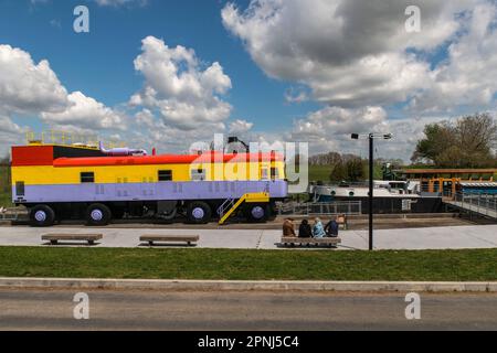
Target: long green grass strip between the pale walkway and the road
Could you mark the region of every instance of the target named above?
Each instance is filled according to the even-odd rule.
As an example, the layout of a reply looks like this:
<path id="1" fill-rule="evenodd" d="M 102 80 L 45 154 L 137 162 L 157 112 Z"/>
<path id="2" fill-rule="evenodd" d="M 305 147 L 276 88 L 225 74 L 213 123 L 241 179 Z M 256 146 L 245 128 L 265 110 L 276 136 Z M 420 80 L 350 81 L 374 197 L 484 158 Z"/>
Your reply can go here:
<path id="1" fill-rule="evenodd" d="M 497 249 L 368 253 L 0 247 L 0 276 L 478 281 L 497 280 L 496 259 Z"/>

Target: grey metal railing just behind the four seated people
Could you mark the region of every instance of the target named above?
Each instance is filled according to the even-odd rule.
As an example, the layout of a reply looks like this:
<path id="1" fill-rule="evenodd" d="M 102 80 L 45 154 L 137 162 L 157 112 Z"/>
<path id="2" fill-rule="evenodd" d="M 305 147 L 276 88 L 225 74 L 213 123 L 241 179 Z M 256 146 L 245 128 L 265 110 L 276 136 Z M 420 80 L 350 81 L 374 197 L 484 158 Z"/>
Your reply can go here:
<path id="1" fill-rule="evenodd" d="M 279 215 L 358 215 L 362 214 L 360 201 L 343 202 L 289 202 L 278 205 Z"/>

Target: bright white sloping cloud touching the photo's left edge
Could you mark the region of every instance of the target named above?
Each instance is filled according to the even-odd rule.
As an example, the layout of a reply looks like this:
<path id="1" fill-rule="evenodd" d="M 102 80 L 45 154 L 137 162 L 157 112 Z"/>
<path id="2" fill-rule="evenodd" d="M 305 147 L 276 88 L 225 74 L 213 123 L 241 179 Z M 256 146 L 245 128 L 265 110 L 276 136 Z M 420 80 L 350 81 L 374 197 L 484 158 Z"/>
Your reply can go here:
<path id="1" fill-rule="evenodd" d="M 67 94 L 49 61 L 35 64 L 21 49 L 0 45 L 0 115 L 6 119 L 34 115 L 51 127 L 82 131 L 125 126 L 119 114 L 104 104 L 81 92 Z"/>

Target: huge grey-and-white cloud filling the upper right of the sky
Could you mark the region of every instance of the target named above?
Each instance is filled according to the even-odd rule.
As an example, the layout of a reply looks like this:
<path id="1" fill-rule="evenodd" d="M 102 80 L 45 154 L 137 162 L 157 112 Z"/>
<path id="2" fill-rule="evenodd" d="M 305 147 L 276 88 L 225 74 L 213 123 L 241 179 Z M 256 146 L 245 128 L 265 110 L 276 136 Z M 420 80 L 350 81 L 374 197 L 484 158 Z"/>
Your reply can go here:
<path id="1" fill-rule="evenodd" d="M 446 94 L 444 100 L 452 105 L 458 104 L 454 95 L 461 104 L 488 104 L 497 90 L 491 75 L 480 84 L 474 81 L 496 67 L 496 35 L 486 25 L 495 21 L 495 3 L 417 1 L 420 33 L 405 31 L 404 10 L 410 4 L 409 0 L 253 0 L 245 11 L 226 4 L 222 19 L 267 75 L 308 86 L 317 101 L 388 106 L 415 96 L 413 106 L 446 109 L 437 97 L 426 99 L 435 92 Z M 473 13 L 473 25 L 465 33 L 467 13 Z M 447 43 L 452 43 L 448 65 L 431 67 L 426 54 Z"/>

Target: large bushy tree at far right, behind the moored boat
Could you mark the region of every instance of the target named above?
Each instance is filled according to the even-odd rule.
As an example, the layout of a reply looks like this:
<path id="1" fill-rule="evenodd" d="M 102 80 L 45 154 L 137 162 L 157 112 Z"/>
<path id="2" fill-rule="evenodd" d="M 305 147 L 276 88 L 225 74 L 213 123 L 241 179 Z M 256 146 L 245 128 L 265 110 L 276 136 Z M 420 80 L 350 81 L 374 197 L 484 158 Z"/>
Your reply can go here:
<path id="1" fill-rule="evenodd" d="M 413 162 L 427 161 L 442 168 L 495 167 L 497 125 L 488 114 L 475 114 L 455 122 L 430 124 L 417 141 Z"/>

